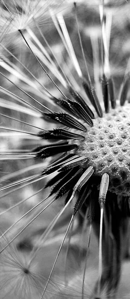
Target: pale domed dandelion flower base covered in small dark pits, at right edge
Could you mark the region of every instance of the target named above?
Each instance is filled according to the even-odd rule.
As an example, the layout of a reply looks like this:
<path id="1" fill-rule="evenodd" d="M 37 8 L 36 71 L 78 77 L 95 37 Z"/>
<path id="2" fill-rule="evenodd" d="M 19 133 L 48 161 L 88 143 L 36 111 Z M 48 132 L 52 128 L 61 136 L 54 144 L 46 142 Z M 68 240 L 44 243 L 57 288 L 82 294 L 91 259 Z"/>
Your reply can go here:
<path id="1" fill-rule="evenodd" d="M 94 126 L 79 142 L 78 154 L 89 158 L 95 175 L 110 175 L 109 190 L 130 196 L 130 104 L 111 110 L 103 118 L 93 120 Z"/>

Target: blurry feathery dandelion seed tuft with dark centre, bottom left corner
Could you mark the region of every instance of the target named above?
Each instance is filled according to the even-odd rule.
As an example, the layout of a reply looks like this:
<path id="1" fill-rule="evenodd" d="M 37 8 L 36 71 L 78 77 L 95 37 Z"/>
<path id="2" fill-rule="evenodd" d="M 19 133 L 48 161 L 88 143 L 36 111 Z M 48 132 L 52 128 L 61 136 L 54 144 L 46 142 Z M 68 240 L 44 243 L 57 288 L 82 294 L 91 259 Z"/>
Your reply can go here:
<path id="1" fill-rule="evenodd" d="M 27 269 L 27 259 L 27 255 L 20 253 L 15 246 L 11 246 L 1 255 L 1 298 L 16 296 L 19 299 L 29 299 L 31 296 L 39 296 L 43 278 L 38 274 L 36 261 L 33 261 L 29 270 Z"/>

